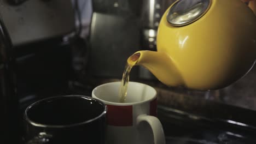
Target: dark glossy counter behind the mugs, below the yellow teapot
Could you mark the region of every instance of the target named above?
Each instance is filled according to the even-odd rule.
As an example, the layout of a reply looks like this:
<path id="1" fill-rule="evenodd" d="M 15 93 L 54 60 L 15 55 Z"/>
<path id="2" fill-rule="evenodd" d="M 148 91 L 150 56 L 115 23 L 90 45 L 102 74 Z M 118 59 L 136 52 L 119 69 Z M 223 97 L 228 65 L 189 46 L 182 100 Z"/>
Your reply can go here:
<path id="1" fill-rule="evenodd" d="M 255 71 L 254 67 L 250 73 L 233 85 L 210 92 L 166 87 L 158 80 L 136 81 L 147 83 L 158 92 L 158 118 L 163 125 L 167 144 L 251 144 L 256 143 Z M 70 91 L 61 94 L 90 96 L 94 87 L 106 82 L 120 81 L 119 79 L 86 80 L 89 85 L 73 82 Z M 21 105 L 23 109 L 28 103 Z"/>

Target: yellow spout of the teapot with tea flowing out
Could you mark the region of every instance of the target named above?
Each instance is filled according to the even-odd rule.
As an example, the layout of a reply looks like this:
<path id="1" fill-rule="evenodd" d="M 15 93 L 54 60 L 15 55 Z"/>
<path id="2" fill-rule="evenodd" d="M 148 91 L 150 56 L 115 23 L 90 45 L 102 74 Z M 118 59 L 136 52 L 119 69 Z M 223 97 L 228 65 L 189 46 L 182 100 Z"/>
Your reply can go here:
<path id="1" fill-rule="evenodd" d="M 167 86 L 184 86 L 175 62 L 165 52 L 138 51 L 127 59 L 127 63 L 142 65 Z"/>

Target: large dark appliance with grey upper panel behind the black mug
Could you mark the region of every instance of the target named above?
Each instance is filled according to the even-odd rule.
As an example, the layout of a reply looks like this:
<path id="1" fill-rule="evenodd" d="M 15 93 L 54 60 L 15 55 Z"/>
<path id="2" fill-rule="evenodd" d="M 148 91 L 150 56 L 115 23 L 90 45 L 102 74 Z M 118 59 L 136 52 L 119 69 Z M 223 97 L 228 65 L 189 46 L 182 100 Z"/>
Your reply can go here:
<path id="1" fill-rule="evenodd" d="M 75 15 L 69 0 L 0 2 L 0 143 L 20 143 L 25 108 L 67 93 Z"/>

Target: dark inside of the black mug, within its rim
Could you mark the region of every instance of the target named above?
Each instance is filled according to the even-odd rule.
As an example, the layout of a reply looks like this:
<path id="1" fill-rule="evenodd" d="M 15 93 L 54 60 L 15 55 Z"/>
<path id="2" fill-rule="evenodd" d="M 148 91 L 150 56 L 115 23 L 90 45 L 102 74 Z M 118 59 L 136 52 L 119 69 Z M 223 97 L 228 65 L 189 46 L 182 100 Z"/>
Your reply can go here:
<path id="1" fill-rule="evenodd" d="M 56 97 L 38 101 L 28 107 L 30 121 L 44 125 L 69 125 L 100 116 L 105 106 L 89 97 Z"/>

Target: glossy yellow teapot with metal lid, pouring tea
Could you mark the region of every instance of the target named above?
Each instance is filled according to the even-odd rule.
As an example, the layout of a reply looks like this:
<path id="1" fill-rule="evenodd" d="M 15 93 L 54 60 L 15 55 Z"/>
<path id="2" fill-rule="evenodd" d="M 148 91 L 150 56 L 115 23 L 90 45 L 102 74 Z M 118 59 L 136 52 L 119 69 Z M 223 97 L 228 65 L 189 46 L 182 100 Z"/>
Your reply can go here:
<path id="1" fill-rule="evenodd" d="M 256 17 L 240 0 L 178 0 L 161 18 L 156 46 L 127 62 L 146 67 L 167 86 L 224 88 L 255 63 Z"/>

